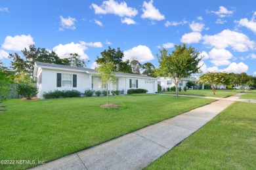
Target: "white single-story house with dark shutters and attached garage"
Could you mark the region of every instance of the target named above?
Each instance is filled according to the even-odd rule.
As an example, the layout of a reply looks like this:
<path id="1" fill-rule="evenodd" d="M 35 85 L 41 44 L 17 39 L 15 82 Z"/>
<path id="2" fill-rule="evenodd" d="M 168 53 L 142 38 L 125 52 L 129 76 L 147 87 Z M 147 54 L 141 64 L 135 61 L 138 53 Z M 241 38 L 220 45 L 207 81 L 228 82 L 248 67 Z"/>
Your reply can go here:
<path id="1" fill-rule="evenodd" d="M 116 82 L 109 84 L 109 90 L 123 90 L 142 88 L 148 93 L 158 91 L 158 78 L 135 75 L 129 73 L 114 72 Z M 95 69 L 58 65 L 53 63 L 35 62 L 33 76 L 37 77 L 37 97 L 43 98 L 44 92 L 53 90 L 104 90 L 102 80 L 96 75 Z"/>

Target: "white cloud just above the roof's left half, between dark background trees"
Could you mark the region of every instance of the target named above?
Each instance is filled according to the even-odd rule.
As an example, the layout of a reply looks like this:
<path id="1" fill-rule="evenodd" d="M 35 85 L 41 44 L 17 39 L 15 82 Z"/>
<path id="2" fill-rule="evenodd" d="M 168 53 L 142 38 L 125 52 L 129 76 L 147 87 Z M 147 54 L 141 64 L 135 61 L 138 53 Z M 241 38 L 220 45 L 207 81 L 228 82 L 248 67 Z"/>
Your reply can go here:
<path id="1" fill-rule="evenodd" d="M 58 44 L 58 46 L 53 48 L 53 51 L 56 52 L 60 58 L 67 58 L 70 53 L 77 53 L 83 59 L 89 58 L 83 50 L 85 50 L 85 46 L 78 43 L 75 44 L 74 42 L 64 45 Z"/>

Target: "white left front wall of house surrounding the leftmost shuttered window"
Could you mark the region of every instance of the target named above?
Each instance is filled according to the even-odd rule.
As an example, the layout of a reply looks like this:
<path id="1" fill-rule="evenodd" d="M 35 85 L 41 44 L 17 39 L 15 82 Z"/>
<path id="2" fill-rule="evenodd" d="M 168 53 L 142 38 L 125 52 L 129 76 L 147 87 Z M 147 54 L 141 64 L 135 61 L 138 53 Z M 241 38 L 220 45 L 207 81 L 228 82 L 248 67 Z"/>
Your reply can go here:
<path id="1" fill-rule="evenodd" d="M 57 87 L 57 73 L 77 75 L 77 87 Z M 42 98 L 43 92 L 50 92 L 53 90 L 78 90 L 79 92 L 84 93 L 85 90 L 89 88 L 91 88 L 91 82 L 89 74 L 87 73 L 55 69 L 43 69 L 41 93 L 38 93 L 38 95 L 40 98 Z"/>

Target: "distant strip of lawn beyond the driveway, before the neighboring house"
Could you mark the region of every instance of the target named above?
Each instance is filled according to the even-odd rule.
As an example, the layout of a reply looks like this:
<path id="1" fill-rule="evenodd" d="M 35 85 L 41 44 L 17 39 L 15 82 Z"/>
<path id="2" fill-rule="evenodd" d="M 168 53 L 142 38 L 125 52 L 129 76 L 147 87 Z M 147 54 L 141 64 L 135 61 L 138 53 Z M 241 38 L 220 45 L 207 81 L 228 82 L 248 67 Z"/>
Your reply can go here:
<path id="1" fill-rule="evenodd" d="M 183 90 L 179 92 L 179 94 L 185 95 L 202 95 L 208 97 L 228 97 L 230 95 L 235 95 L 236 93 L 240 93 L 242 90 L 216 90 L 216 95 L 213 94 L 213 90 L 187 90 L 184 92 Z M 175 94 L 176 92 L 161 92 L 161 93 L 171 93 Z"/>

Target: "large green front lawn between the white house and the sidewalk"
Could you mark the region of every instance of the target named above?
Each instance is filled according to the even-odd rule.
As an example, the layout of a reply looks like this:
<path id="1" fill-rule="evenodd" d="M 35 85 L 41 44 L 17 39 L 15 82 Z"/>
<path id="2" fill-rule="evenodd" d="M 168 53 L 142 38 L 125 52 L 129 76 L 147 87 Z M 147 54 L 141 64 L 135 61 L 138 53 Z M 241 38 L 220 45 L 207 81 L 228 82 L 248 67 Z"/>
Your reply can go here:
<path id="1" fill-rule="evenodd" d="M 110 96 L 110 103 L 121 107 L 101 109 L 106 97 L 12 99 L 0 114 L 0 160 L 55 160 L 212 101 L 137 94 Z M 33 166 L 0 164 L 0 169 Z"/>

